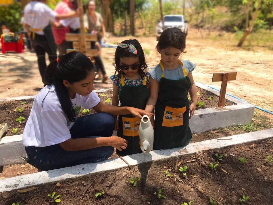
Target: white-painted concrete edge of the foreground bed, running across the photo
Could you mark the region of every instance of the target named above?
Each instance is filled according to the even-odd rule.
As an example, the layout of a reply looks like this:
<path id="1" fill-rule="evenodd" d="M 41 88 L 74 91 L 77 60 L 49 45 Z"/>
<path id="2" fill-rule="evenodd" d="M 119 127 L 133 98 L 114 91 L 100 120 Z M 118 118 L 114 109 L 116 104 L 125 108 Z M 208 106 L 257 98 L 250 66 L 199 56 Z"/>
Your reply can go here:
<path id="1" fill-rule="evenodd" d="M 125 156 L 124 159 L 132 166 L 141 164 L 144 162 L 151 162 L 156 160 L 164 160 L 170 157 L 178 157 L 182 155 L 189 155 L 196 152 L 209 149 L 224 149 L 234 145 L 242 145 L 248 143 L 259 143 L 266 138 L 273 137 L 273 128 L 268 130 L 261 130 L 256 132 L 250 132 L 246 134 L 239 134 L 232 136 L 231 140 L 206 140 L 203 142 L 197 142 L 189 144 L 182 149 L 166 149 L 155 150 L 148 154 L 140 153 Z M 225 137 L 230 138 L 230 137 Z M 73 167 L 67 167 L 62 169 L 51 170 L 47 172 L 38 172 L 34 174 L 26 174 L 23 176 L 15 176 L 12 178 L 6 178 L 0 180 L 0 192 L 12 191 L 17 189 L 25 189 L 28 187 L 36 187 L 45 184 L 52 184 L 56 182 L 64 181 L 65 179 L 72 179 L 84 176 L 86 174 L 94 174 L 102 171 L 114 171 L 119 168 L 126 167 L 120 158 L 113 160 L 105 160 L 103 163 L 94 164 L 81 164 Z"/>

